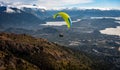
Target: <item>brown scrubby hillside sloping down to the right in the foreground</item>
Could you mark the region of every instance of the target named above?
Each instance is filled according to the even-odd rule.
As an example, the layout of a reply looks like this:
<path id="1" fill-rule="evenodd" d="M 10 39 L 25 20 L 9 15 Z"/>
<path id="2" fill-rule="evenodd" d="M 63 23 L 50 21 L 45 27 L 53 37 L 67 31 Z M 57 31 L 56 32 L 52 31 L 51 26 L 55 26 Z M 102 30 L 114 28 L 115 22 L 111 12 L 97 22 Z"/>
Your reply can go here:
<path id="1" fill-rule="evenodd" d="M 70 49 L 45 39 L 0 33 L 0 69 L 91 70 L 90 60 L 80 62 Z"/>

